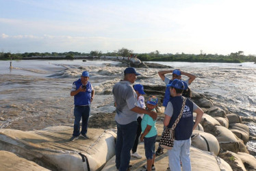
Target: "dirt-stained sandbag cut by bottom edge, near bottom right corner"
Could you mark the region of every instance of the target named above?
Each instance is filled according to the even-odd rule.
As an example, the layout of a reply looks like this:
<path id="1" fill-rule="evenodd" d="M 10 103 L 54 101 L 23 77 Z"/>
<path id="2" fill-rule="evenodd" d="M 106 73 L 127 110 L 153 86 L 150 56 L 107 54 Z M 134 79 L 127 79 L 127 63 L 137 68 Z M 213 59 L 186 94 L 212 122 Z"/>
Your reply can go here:
<path id="1" fill-rule="evenodd" d="M 246 171 L 244 163 L 236 153 L 227 150 L 225 153 L 220 153 L 218 156 L 227 161 L 233 170 Z"/>

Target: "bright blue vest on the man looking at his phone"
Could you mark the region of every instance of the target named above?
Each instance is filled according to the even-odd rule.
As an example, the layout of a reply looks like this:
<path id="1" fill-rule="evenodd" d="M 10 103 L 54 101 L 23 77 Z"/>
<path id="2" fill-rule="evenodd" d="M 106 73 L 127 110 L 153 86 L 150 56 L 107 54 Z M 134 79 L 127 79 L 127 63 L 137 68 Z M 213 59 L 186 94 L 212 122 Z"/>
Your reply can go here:
<path id="1" fill-rule="evenodd" d="M 78 79 L 74 82 L 76 86 L 76 90 L 82 86 L 81 79 Z M 86 92 L 79 92 L 77 95 L 74 96 L 74 103 L 75 105 L 90 105 L 90 98 L 92 96 L 92 85 L 90 81 L 86 84 Z"/>

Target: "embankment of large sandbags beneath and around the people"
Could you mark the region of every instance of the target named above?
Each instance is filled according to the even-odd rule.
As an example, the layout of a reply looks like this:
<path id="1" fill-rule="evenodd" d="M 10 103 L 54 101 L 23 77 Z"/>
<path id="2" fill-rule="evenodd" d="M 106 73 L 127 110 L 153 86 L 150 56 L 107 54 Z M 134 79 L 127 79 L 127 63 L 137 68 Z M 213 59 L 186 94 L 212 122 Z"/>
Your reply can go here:
<path id="1" fill-rule="evenodd" d="M 146 94 L 155 95 L 160 99 L 157 107 L 157 141 L 161 136 L 164 120 L 164 108 L 161 107 L 164 90 L 164 86 L 144 85 Z M 253 156 L 255 152 L 246 148 L 248 140 L 256 138 L 250 135 L 245 124 L 251 122 L 251 119 L 230 113 L 204 94 L 193 92 L 192 101 L 205 111 L 198 130 L 192 134 L 192 169 L 205 169 L 197 158 L 200 153 L 205 156 L 200 158 L 204 162 L 215 162 L 212 170 L 220 170 L 223 167 L 225 170 L 256 170 L 256 159 Z M 27 170 L 30 167 L 32 170 L 102 170 L 114 156 L 114 115 L 113 112 L 92 116 L 88 131 L 90 139 L 79 138 L 75 142 L 68 141 L 73 130 L 72 124 L 48 127 L 40 131 L 0 129 L 0 160 L 3 163 L 1 167 L 3 170 Z M 157 158 L 156 165 L 167 158 L 167 155 Z M 15 160 L 21 161 L 21 164 L 14 165 L 12 161 Z M 140 170 L 140 166 L 144 164 L 136 160 L 132 163 L 132 170 Z M 105 167 L 107 166 L 111 165 L 107 164 Z M 219 167 L 215 168 L 216 166 Z"/>

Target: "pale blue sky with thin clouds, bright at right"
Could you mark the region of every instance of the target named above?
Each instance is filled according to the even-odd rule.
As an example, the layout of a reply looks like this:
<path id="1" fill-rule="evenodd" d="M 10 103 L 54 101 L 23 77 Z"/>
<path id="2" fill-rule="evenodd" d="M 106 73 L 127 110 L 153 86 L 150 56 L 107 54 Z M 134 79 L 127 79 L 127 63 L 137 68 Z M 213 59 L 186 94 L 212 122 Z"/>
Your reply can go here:
<path id="1" fill-rule="evenodd" d="M 0 0 L 0 51 L 256 55 L 255 6 L 255 0 Z"/>

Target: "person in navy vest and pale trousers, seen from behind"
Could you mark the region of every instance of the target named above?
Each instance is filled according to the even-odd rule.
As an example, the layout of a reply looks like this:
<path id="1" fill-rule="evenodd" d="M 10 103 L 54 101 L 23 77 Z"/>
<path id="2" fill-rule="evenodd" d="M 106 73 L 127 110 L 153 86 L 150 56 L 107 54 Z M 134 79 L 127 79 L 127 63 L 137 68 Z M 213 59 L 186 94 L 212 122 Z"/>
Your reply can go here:
<path id="1" fill-rule="evenodd" d="M 179 79 L 174 79 L 172 83 L 167 85 L 170 88 L 170 101 L 164 111 L 164 126 L 171 128 L 177 120 L 182 103 L 185 100 L 185 107 L 182 111 L 181 118 L 175 127 L 175 141 L 173 148 L 168 150 L 169 167 L 172 171 L 181 170 L 180 161 L 182 162 L 182 169 L 191 171 L 190 163 L 190 144 L 192 131 L 197 127 L 203 116 L 203 110 L 189 98 L 183 99 L 181 96 L 183 92 L 183 82 Z M 196 121 L 193 122 L 193 112 L 196 113 Z"/>

